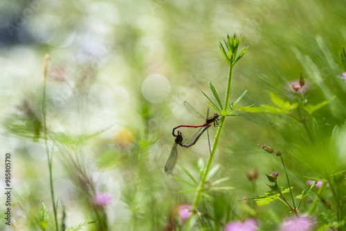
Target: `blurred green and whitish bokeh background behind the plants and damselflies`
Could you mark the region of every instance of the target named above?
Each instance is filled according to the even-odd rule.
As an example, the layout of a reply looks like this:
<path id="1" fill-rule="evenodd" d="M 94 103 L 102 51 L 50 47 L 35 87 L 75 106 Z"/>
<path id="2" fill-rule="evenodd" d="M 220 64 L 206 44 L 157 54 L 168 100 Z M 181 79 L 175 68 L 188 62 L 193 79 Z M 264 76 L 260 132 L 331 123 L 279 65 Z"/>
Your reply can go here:
<path id="1" fill-rule="evenodd" d="M 227 34 L 236 34 L 241 46 L 249 47 L 235 67 L 231 100 L 248 90 L 241 106 L 273 105 L 270 92 L 293 102 L 289 83 L 302 73 L 305 98 L 311 104 L 330 101 L 313 114 L 320 147 L 304 146 L 292 126 L 307 138 L 304 127 L 284 115 L 228 118 L 212 165 L 220 164 L 217 177 L 230 177 L 224 185 L 235 190 L 222 193 L 237 204 L 234 212 L 242 213 L 239 199 L 268 191 L 264 174 L 273 168 L 282 172 L 278 159 L 258 143 L 284 154 L 296 194 L 305 187 L 304 176 L 316 176 L 320 169 L 319 163 L 316 169 L 304 168 L 289 151 L 316 153 L 321 162 L 330 160 L 331 169 L 345 167 L 345 136 L 330 141 L 334 127 L 341 129 L 345 122 L 346 83 L 336 77 L 346 71 L 338 56 L 346 38 L 344 1 L 33 0 L 2 1 L 0 6 L 1 151 L 12 154 L 16 230 L 39 230 L 33 216 L 42 202 L 53 214 L 44 140 L 24 137 L 28 131 L 9 125 L 28 108 L 42 119 L 46 53 L 51 56 L 47 127 L 55 139 L 55 197 L 66 206 L 67 226 L 95 221 L 81 172 L 93 190 L 112 196 L 105 208 L 110 230 L 163 230 L 174 207 L 192 203 L 194 194 L 179 190 L 193 188 L 168 177 L 163 166 L 174 142 L 172 128 L 203 123 L 185 110 L 183 101 L 205 114 L 208 100 L 201 90 L 212 95 L 208 82 L 224 96 L 228 66 L 219 41 Z M 212 142 L 216 129 L 208 130 Z M 189 129 L 184 132 L 191 135 Z M 178 151 L 177 164 L 199 176 L 197 161 L 206 163 L 209 155 L 207 135 Z M 254 169 L 259 178 L 252 192 L 246 172 Z M 179 168 L 173 175 L 183 177 Z M 279 181 L 287 187 L 284 178 Z M 288 214 L 280 203 L 257 207 L 260 211 L 270 214 L 262 223 L 273 225 L 280 223 L 282 211 Z"/>

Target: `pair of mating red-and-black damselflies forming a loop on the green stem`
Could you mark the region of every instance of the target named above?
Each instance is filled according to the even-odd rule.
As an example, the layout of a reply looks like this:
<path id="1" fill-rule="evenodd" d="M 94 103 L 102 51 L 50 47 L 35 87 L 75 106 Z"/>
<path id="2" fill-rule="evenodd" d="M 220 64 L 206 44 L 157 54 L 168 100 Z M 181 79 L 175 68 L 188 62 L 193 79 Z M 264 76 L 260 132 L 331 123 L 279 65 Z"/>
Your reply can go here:
<path id="1" fill-rule="evenodd" d="M 201 113 L 199 113 L 196 109 L 194 109 L 194 107 L 192 107 L 186 101 L 184 102 L 184 107 L 192 115 L 198 118 L 202 118 L 203 120 L 206 120 L 206 122 L 204 122 L 204 124 L 197 125 L 197 126 L 179 125 L 177 127 L 174 127 L 172 131 L 172 135 L 175 137 L 175 140 L 174 140 L 170 157 L 168 158 L 167 163 L 165 165 L 166 174 L 170 174 L 172 172 L 174 165 L 176 163 L 176 158 L 178 157 L 178 150 L 176 149 L 177 145 L 180 145 L 181 147 L 186 147 L 186 148 L 191 147 L 192 145 L 196 144 L 197 140 L 199 140 L 203 132 L 206 131 L 210 126 L 212 126 L 212 123 L 214 124 L 215 127 L 219 124 L 218 121 L 220 120 L 219 118 L 220 115 L 218 115 L 217 113 L 215 113 L 212 117 L 208 118 L 209 108 L 208 108 L 207 116 L 205 118 Z M 188 142 L 185 143 L 183 141 L 183 133 L 181 131 L 177 131 L 176 133 L 174 133 L 174 131 L 176 129 L 179 129 L 179 127 L 192 127 L 192 128 L 199 127 L 199 130 L 196 133 L 194 133 L 194 135 L 188 140 Z M 209 134 L 208 134 L 208 140 L 209 140 Z"/>

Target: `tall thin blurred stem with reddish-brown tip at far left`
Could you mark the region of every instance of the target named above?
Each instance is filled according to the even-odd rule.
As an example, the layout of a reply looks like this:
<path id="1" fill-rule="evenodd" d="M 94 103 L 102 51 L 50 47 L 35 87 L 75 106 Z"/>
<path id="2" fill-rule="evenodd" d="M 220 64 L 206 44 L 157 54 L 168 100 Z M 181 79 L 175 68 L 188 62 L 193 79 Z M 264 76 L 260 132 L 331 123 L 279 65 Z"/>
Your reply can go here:
<path id="1" fill-rule="evenodd" d="M 49 153 L 47 125 L 46 125 L 46 77 L 47 77 L 48 59 L 49 59 L 49 55 L 46 54 L 44 57 L 44 72 L 43 72 L 44 89 L 43 89 L 42 113 L 44 118 L 44 145 L 46 146 L 47 162 L 48 162 L 48 169 L 49 169 L 49 185 L 51 187 L 51 198 L 52 198 L 52 205 L 53 205 L 53 212 L 54 212 L 55 229 L 58 231 L 57 208 L 55 206 L 54 189 L 53 189 L 53 166 L 52 166 L 53 160 L 52 160 L 51 154 Z"/>

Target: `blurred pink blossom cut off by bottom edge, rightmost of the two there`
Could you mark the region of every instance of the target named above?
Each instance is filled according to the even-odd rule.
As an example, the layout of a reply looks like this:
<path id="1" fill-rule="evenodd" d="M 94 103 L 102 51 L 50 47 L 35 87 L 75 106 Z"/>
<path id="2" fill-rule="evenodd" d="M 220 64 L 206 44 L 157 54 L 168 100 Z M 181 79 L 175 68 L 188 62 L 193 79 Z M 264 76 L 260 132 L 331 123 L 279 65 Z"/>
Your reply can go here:
<path id="1" fill-rule="evenodd" d="M 280 225 L 280 231 L 309 231 L 312 230 L 315 225 L 315 221 L 308 216 L 302 216 L 300 218 L 296 216 L 284 219 Z"/>

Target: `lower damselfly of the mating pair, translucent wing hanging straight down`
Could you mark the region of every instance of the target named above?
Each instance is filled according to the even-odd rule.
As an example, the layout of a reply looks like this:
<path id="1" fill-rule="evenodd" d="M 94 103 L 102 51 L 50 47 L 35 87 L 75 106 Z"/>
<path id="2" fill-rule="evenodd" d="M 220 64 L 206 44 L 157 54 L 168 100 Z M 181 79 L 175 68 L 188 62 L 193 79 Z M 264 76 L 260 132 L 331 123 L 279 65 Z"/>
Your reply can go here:
<path id="1" fill-rule="evenodd" d="M 178 131 L 178 134 L 176 135 L 176 138 L 174 140 L 170 157 L 168 157 L 168 160 L 165 164 L 166 174 L 170 174 L 172 172 L 174 165 L 176 163 L 176 158 L 178 158 L 178 150 L 176 149 L 176 145 L 180 145 L 181 147 L 186 148 L 191 147 L 192 145 L 196 144 L 197 140 L 201 137 L 203 132 L 206 131 L 206 129 L 208 129 L 208 127 L 210 127 L 211 125 L 212 124 L 207 124 L 206 127 L 201 127 L 201 129 L 199 129 L 199 131 L 190 138 L 187 144 L 183 143 L 183 133 L 181 133 L 181 131 Z"/>

